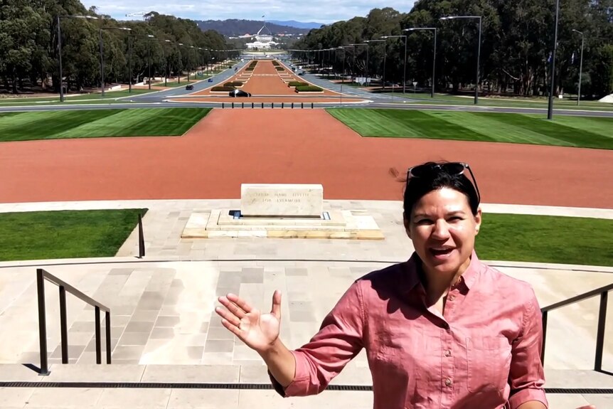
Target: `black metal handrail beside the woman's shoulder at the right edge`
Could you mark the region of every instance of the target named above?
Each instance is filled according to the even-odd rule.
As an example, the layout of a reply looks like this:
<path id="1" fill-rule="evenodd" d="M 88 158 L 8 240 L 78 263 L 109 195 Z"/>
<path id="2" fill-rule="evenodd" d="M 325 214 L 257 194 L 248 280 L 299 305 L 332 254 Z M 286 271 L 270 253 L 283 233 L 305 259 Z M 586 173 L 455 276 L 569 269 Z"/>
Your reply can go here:
<path id="1" fill-rule="evenodd" d="M 565 299 L 555 304 L 548 305 L 540 309 L 540 314 L 543 317 L 543 346 L 540 350 L 540 361 L 545 363 L 545 339 L 547 336 L 547 316 L 550 311 L 561 307 L 566 307 L 575 302 L 583 301 L 584 299 L 596 297 L 600 295 L 600 308 L 598 312 L 598 329 L 596 333 L 596 356 L 594 360 L 594 371 L 602 371 L 602 352 L 604 351 L 604 324 L 607 320 L 607 301 L 609 299 L 609 291 L 613 290 L 613 283 L 597 288 L 596 290 L 579 294 L 575 297 Z"/>

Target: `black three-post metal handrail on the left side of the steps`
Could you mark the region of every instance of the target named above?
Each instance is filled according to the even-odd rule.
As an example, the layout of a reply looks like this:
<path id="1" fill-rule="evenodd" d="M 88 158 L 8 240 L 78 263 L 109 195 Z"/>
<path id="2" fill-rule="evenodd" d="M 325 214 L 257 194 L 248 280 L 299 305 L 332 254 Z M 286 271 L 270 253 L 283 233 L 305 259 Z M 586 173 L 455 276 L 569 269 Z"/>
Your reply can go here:
<path id="1" fill-rule="evenodd" d="M 68 322 L 66 319 L 66 292 L 70 292 L 78 299 L 87 302 L 94 307 L 95 331 L 96 331 L 96 363 L 102 363 L 102 345 L 100 342 L 100 310 L 105 312 L 105 338 L 107 347 L 107 363 L 111 363 L 111 310 L 109 307 L 87 297 L 67 282 L 60 280 L 42 268 L 36 269 L 36 285 L 38 287 L 38 336 L 41 346 L 41 371 L 40 375 L 50 373 L 47 362 L 47 319 L 45 308 L 45 280 L 60 288 L 60 333 L 62 347 L 62 363 L 68 363 Z"/>

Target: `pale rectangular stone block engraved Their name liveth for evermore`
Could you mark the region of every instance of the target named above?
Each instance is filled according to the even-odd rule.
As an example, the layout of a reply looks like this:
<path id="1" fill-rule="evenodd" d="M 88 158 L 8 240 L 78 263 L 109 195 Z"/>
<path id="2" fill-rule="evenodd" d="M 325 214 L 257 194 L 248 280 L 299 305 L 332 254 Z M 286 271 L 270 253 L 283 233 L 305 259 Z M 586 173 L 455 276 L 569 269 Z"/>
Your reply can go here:
<path id="1" fill-rule="evenodd" d="M 318 184 L 242 184 L 243 216 L 321 216 L 324 186 Z"/>

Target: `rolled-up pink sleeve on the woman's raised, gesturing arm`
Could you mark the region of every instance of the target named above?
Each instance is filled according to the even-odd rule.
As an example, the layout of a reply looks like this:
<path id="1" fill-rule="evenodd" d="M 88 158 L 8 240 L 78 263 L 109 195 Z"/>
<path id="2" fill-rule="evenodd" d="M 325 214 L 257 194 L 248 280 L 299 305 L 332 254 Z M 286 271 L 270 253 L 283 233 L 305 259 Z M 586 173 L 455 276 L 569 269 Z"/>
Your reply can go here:
<path id="1" fill-rule="evenodd" d="M 294 380 L 286 388 L 270 376 L 280 395 L 316 395 L 341 373 L 363 348 L 364 304 L 360 281 L 353 282 L 321 323 L 308 344 L 292 351 L 296 359 Z M 269 373 L 270 374 L 270 373 Z"/>

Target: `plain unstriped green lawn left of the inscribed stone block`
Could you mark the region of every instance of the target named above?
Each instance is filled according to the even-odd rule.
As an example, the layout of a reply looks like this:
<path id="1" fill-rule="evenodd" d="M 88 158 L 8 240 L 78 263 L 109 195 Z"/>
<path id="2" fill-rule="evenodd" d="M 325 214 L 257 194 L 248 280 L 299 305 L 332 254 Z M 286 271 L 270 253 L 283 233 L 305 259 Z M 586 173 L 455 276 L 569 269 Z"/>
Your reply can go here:
<path id="1" fill-rule="evenodd" d="M 0 213 L 0 261 L 113 257 L 146 211 Z"/>

